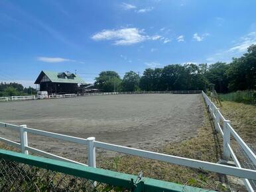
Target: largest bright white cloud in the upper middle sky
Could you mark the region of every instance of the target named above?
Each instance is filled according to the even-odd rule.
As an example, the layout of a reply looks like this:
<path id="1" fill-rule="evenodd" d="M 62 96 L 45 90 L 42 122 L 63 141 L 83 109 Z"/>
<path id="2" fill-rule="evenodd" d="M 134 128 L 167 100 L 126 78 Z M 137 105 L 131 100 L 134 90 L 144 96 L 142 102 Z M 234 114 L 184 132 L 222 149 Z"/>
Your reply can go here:
<path id="1" fill-rule="evenodd" d="M 93 40 L 113 40 L 115 45 L 131 45 L 145 40 L 159 40 L 161 36 L 147 36 L 143 29 L 121 28 L 102 30 L 92 36 Z"/>

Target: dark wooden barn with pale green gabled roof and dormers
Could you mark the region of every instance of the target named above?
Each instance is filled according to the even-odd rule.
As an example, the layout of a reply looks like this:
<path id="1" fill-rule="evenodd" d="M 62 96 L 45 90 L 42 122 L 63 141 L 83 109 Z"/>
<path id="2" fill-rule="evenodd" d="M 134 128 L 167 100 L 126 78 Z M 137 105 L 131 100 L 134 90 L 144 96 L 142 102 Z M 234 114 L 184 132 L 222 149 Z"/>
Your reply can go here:
<path id="1" fill-rule="evenodd" d="M 40 91 L 47 91 L 48 94 L 66 94 L 78 93 L 78 85 L 85 82 L 74 73 L 42 71 L 34 84 L 40 85 Z"/>

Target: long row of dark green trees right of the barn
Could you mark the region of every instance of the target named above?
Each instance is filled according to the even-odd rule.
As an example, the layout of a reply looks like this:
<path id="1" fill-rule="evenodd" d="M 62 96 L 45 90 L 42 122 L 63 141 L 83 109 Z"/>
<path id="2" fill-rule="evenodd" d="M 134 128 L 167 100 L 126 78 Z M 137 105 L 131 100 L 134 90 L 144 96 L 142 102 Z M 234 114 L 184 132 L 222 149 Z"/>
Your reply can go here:
<path id="1" fill-rule="evenodd" d="M 173 64 L 163 68 L 148 68 L 140 77 L 131 71 L 123 79 L 117 72 L 99 73 L 94 85 L 101 91 L 180 91 L 205 90 L 210 83 L 218 93 L 255 90 L 256 45 L 247 48 L 240 58 L 229 64 L 217 62 L 207 64 Z"/>

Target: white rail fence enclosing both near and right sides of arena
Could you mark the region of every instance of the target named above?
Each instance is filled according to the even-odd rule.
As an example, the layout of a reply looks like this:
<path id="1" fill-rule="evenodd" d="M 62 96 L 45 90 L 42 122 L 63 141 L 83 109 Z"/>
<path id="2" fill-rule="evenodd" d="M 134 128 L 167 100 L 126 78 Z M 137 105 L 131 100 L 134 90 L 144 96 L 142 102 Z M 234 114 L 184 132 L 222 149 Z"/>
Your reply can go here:
<path id="1" fill-rule="evenodd" d="M 67 136 L 64 134 L 57 134 L 54 132 L 46 132 L 44 130 L 37 130 L 34 128 L 28 128 L 26 125 L 13 125 L 13 124 L 7 124 L 4 122 L 0 122 L 0 127 L 5 127 L 5 128 L 10 128 L 15 131 L 18 131 L 20 134 L 20 143 L 19 142 L 14 142 L 12 140 L 8 140 L 6 138 L 1 138 L 0 140 L 7 143 L 11 144 L 12 146 L 16 146 L 18 148 L 21 148 L 21 152 L 25 154 L 29 154 L 29 152 L 33 152 L 35 154 L 39 154 L 40 156 L 45 156 L 46 158 L 52 158 L 56 160 L 63 160 L 66 162 L 73 162 L 76 164 L 81 164 L 80 162 L 75 162 L 73 160 L 68 160 L 66 158 L 62 158 L 61 156 L 56 156 L 54 154 L 50 154 L 48 152 L 44 152 L 42 150 L 38 150 L 36 148 L 32 148 L 29 146 L 28 142 L 28 137 L 27 134 L 37 134 L 40 136 L 47 136 L 50 138 L 57 138 L 60 140 L 66 140 L 69 142 L 74 142 L 78 144 L 83 144 L 85 147 L 88 148 L 88 165 L 83 164 L 84 166 L 92 166 L 96 167 L 96 148 L 103 148 L 105 150 L 111 150 L 113 152 L 119 152 L 123 154 L 129 154 L 133 156 L 139 156 L 142 158 L 149 158 L 152 160 L 159 160 L 162 162 L 168 162 L 170 164 L 177 164 L 180 166 L 187 166 L 190 168 L 197 168 L 197 169 L 205 169 L 208 171 L 213 171 L 216 173 L 222 173 L 225 175 L 233 175 L 236 177 L 242 177 L 245 181 L 245 186 L 247 187 L 248 191 L 253 191 L 248 179 L 256 180 L 256 170 L 253 169 L 245 169 L 241 168 L 231 146 L 230 146 L 230 135 L 233 135 L 234 138 L 239 142 L 241 145 L 241 148 L 246 152 L 248 156 L 250 156 L 251 160 L 253 161 L 253 164 L 256 165 L 256 157 L 255 154 L 251 151 L 251 149 L 243 142 L 243 140 L 239 137 L 239 135 L 233 130 L 231 125 L 229 124 L 228 120 L 225 120 L 222 114 L 220 113 L 220 110 L 208 99 L 206 94 L 202 92 L 203 97 L 206 101 L 206 104 L 208 105 L 211 114 L 214 117 L 215 124 L 217 127 L 217 130 L 220 131 L 220 133 L 224 136 L 224 157 L 229 159 L 229 156 L 233 158 L 233 161 L 235 162 L 237 167 L 233 166 L 228 166 L 228 165 L 223 165 L 223 164 L 214 164 L 212 162 L 204 162 L 200 160 L 193 160 L 189 158 L 182 158 L 179 156 L 172 156 L 172 155 L 167 155 L 167 154 L 160 154 L 157 152 L 151 152 L 147 150 L 139 150 L 136 148 L 129 148 L 126 146 L 119 146 L 115 144 L 109 144 L 105 142 L 99 142 L 96 141 L 94 137 L 90 138 L 77 138 L 74 136 Z M 220 120 L 224 120 L 224 126 L 220 126 Z"/>

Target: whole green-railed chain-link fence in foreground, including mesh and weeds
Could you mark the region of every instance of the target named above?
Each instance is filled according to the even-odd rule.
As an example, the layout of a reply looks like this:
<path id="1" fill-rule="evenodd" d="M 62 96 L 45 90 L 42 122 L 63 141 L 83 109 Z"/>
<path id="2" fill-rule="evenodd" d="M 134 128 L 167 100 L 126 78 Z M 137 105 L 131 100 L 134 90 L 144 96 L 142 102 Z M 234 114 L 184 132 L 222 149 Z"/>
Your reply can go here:
<path id="1" fill-rule="evenodd" d="M 208 191 L 0 150 L 0 191 Z"/>

